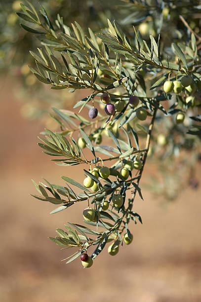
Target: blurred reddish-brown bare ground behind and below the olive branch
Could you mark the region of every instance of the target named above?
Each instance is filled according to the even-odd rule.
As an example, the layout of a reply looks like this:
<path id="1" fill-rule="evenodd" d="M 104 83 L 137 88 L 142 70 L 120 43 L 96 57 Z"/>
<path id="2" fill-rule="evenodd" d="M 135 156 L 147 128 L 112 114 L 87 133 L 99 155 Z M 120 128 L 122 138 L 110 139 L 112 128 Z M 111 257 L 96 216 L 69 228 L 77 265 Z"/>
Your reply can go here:
<path id="1" fill-rule="evenodd" d="M 67 221 L 82 223 L 83 205 L 49 215 L 55 206 L 30 196 L 31 179 L 62 184 L 61 175 L 82 176 L 79 167 L 59 167 L 41 152 L 43 127 L 21 117 L 8 84 L 1 79 L 0 302 L 201 302 L 201 189 L 181 188 L 175 202 L 161 207 L 143 189 L 146 173 L 145 200 L 135 202 L 143 225 L 130 225 L 133 243 L 114 258 L 103 251 L 90 269 L 79 259 L 60 262 L 71 251 L 47 237 Z M 199 170 L 200 164 L 197 177 Z"/>

